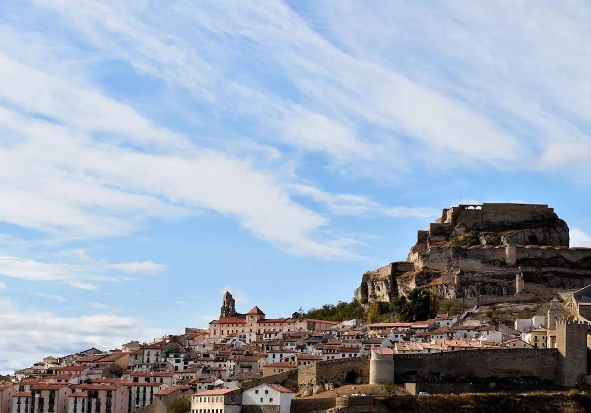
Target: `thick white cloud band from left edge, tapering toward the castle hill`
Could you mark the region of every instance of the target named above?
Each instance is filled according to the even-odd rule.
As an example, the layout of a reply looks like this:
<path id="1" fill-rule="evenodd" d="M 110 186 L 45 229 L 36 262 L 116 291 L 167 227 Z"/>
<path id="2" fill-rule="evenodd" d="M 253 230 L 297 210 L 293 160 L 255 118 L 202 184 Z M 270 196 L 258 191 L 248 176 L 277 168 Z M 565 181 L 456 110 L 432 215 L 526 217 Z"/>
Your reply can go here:
<path id="1" fill-rule="evenodd" d="M 43 88 L 37 95 L 43 100 L 40 94 Z M 95 110 L 100 119 L 102 108 Z M 238 218 L 255 235 L 294 253 L 349 255 L 330 240 L 314 240 L 327 220 L 291 201 L 281 182 L 247 162 L 197 147 L 173 154 L 185 149 L 173 142 L 168 154 L 139 152 L 8 109 L 0 109 L 2 128 L 15 139 L 0 153 L 0 172 L 13 176 L 0 179 L 4 221 L 61 237 L 107 237 L 128 234 L 142 218 L 183 218 L 206 208 Z M 53 191 L 44 191 L 48 185 Z"/>

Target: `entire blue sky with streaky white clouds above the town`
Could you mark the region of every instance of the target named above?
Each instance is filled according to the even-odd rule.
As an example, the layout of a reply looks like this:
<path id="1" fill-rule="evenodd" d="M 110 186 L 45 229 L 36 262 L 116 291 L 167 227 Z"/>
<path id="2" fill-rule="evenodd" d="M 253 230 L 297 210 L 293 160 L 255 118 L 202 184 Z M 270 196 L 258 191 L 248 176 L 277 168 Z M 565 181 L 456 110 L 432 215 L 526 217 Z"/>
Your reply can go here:
<path id="1" fill-rule="evenodd" d="M 465 202 L 591 245 L 586 2 L 0 2 L 0 372 L 352 298 Z"/>

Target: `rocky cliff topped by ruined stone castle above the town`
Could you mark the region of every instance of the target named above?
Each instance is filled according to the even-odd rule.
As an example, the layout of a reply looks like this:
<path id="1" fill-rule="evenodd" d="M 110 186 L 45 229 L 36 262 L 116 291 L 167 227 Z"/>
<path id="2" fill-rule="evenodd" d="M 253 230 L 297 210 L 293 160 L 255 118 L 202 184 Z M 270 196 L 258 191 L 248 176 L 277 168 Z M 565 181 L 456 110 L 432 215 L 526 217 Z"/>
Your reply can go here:
<path id="1" fill-rule="evenodd" d="M 591 283 L 591 249 L 569 248 L 568 225 L 547 205 L 459 205 L 418 231 L 407 261 L 364 274 L 355 298 L 390 301 L 417 287 L 441 299 L 512 296 L 517 273 L 526 286 L 580 288 Z"/>

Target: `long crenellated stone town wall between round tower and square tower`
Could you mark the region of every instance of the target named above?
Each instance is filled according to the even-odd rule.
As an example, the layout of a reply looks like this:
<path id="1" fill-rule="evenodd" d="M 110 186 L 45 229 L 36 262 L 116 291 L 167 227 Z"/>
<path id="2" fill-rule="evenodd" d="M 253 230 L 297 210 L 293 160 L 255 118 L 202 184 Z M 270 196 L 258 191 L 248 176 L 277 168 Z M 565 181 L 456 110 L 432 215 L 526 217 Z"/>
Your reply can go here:
<path id="1" fill-rule="evenodd" d="M 432 354 L 394 355 L 373 351 L 371 384 L 457 383 L 509 379 L 548 382 L 564 387 L 583 383 L 587 371 L 587 336 L 591 324 L 556 323 L 556 348 L 459 350 Z"/>

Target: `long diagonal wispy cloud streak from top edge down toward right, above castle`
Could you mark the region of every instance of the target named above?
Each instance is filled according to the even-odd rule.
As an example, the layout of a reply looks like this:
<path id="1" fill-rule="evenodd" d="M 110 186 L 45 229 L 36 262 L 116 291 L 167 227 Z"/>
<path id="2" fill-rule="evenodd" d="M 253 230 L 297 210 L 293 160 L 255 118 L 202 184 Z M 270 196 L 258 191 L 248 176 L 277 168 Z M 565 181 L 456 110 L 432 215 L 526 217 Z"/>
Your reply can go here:
<path id="1" fill-rule="evenodd" d="M 67 24 L 105 53 L 190 90 L 196 99 L 215 104 L 223 113 L 251 117 L 260 124 L 258 129 L 267 130 L 261 139 L 281 140 L 341 160 L 377 159 L 390 168 L 397 166 L 394 159 L 400 159 L 394 156 L 393 149 L 398 146 L 395 136 L 389 139 L 394 142 L 359 136 L 356 123 L 384 127 L 391 135 L 402 133 L 448 156 L 459 153 L 460 159 L 506 163 L 526 152 L 514 137 L 469 105 L 414 82 L 396 68 L 335 48 L 298 14 L 277 2 L 261 7 L 235 5 L 231 12 L 215 3 L 204 4 L 197 11 L 189 2 L 180 2 L 177 8 L 142 8 L 142 21 L 139 9 L 119 2 L 40 3 L 59 12 Z M 150 24 L 155 19 L 158 25 Z M 167 25 L 167 21 L 176 24 Z M 160 41 L 164 34 L 174 36 L 174 43 Z M 228 45 L 217 35 L 235 43 Z M 217 44 L 215 53 L 202 47 L 216 41 L 222 44 Z M 215 65 L 237 58 L 242 48 L 236 44 L 241 42 L 264 50 L 270 67 L 285 72 L 286 80 L 306 97 L 307 107 L 294 104 L 249 76 L 240 76 L 242 83 L 220 76 Z M 220 50 L 228 54 L 220 54 Z M 270 71 L 264 65 L 258 69 Z"/>

